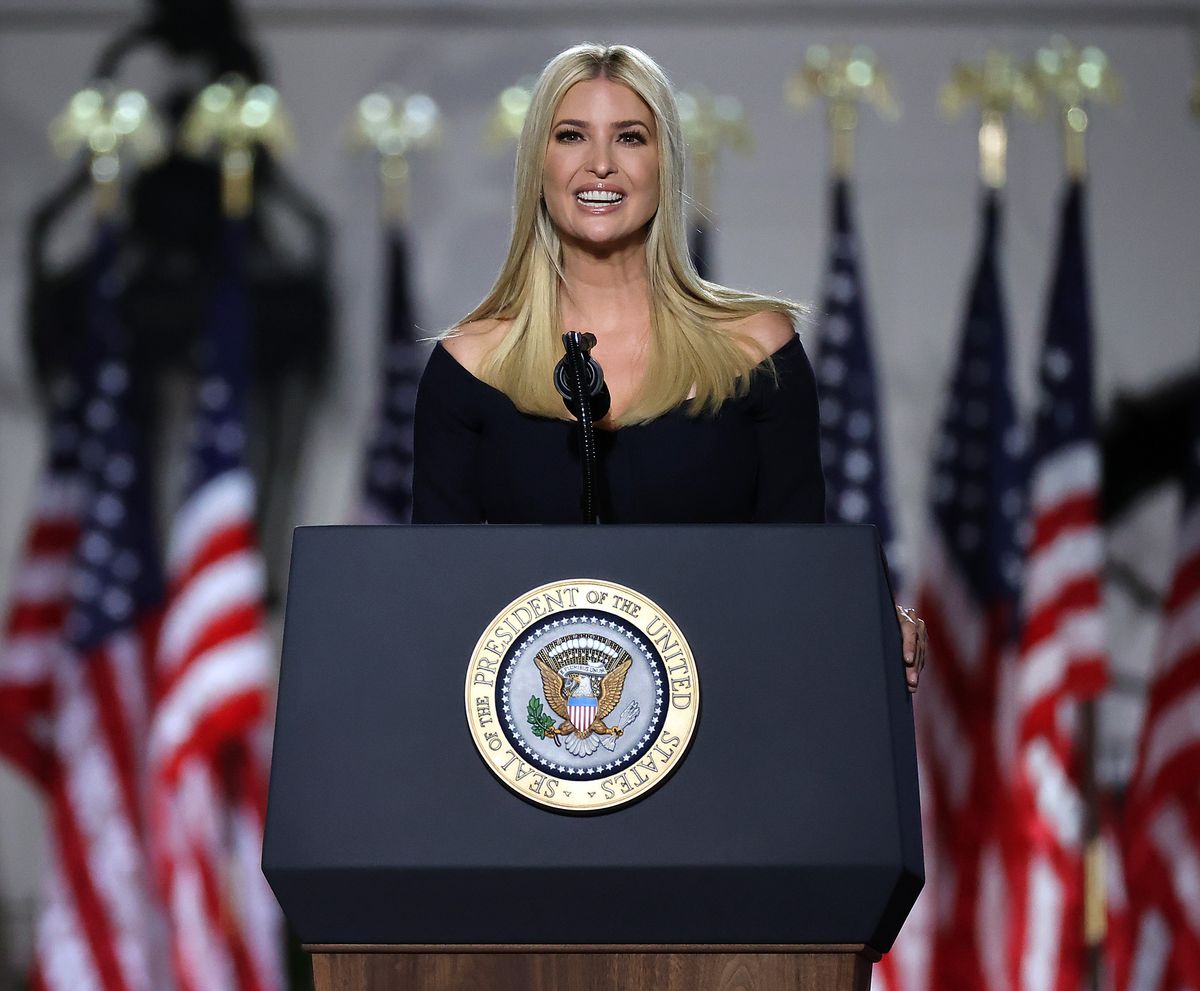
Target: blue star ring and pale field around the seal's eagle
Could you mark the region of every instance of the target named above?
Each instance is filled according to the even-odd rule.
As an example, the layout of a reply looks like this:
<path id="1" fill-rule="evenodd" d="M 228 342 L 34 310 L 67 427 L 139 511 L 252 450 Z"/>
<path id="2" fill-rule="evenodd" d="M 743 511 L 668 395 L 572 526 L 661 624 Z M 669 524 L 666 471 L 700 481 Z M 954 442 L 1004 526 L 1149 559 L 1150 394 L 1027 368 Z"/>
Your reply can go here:
<path id="1" fill-rule="evenodd" d="M 510 686 L 512 684 L 516 666 L 523 657 L 527 656 L 529 647 L 547 632 L 562 631 L 563 635 L 566 635 L 572 630 L 588 630 L 598 626 L 601 630 L 608 630 L 613 635 L 618 635 L 623 639 L 626 639 L 635 650 L 641 653 L 642 660 L 649 666 L 652 672 L 654 683 L 653 707 L 649 704 L 649 699 L 640 701 L 642 714 L 638 719 L 637 728 L 641 729 L 641 733 L 637 738 L 636 746 L 630 749 L 628 752 L 610 757 L 610 755 L 605 751 L 598 750 L 590 757 L 576 758 L 568 753 L 564 749 L 560 758 L 554 761 L 547 759 L 532 747 L 526 739 L 529 729 L 524 725 L 524 699 L 512 698 L 510 696 Z M 498 686 L 498 701 L 499 709 L 503 715 L 502 725 L 504 728 L 504 735 L 512 745 L 514 751 L 520 753 L 521 758 L 529 764 L 533 764 L 540 770 L 563 780 L 595 781 L 636 764 L 637 761 L 641 759 L 658 740 L 659 732 L 662 729 L 662 723 L 666 720 L 666 709 L 670 704 L 666 687 L 666 665 L 662 662 L 662 657 L 655 645 L 646 639 L 640 630 L 634 626 L 626 626 L 612 614 L 598 615 L 586 609 L 559 613 L 558 618 L 553 620 L 542 620 L 530 630 L 526 631 L 505 654 L 499 667 Z M 628 695 L 629 689 L 626 681 L 625 696 Z M 628 704 L 625 697 L 622 698 L 618 704 L 618 709 L 614 710 L 612 716 L 607 720 L 610 725 L 612 725 L 614 717 L 620 711 L 620 705 L 623 704 Z M 596 759 L 602 761 L 602 763 L 595 764 Z"/>

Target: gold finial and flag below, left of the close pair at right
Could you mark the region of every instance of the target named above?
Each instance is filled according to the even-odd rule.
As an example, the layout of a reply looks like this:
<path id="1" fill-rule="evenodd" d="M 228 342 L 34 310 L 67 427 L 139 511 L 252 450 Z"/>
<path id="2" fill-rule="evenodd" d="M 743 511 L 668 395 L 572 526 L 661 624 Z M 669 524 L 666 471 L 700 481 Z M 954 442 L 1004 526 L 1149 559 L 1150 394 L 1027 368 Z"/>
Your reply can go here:
<path id="1" fill-rule="evenodd" d="M 941 631 L 935 663 L 926 673 L 935 674 L 935 691 L 918 713 L 923 785 L 929 782 L 931 831 L 940 842 L 934 845 L 931 881 L 922 895 L 928 932 L 917 930 L 911 937 L 929 941 L 931 963 L 928 983 L 906 974 L 910 983 L 901 991 L 1024 986 L 1015 959 L 1024 951 L 1024 935 L 1016 936 L 1021 930 L 1015 923 L 1021 915 L 1015 893 L 1024 865 L 1013 858 L 1014 775 L 1004 747 L 996 745 L 1015 701 L 1009 685 L 1019 641 L 1025 506 L 1000 256 L 1009 119 L 1018 110 L 1036 114 L 1037 97 L 1014 56 L 989 50 L 979 62 L 952 68 L 938 103 L 950 120 L 967 109 L 977 113 L 980 224 L 958 354 L 934 444 L 930 527 L 918 599 L 931 630 Z M 971 409 L 974 413 L 967 415 Z M 953 632 L 976 621 L 964 621 L 972 612 L 962 612 L 960 602 L 977 611 L 986 631 L 970 653 L 961 653 Z M 934 743 L 947 725 L 961 727 L 961 744 L 953 752 Z M 959 775 L 968 783 L 958 783 Z M 946 877 L 953 882 L 940 884 Z M 996 919 L 994 929 L 973 925 L 984 913 Z"/>

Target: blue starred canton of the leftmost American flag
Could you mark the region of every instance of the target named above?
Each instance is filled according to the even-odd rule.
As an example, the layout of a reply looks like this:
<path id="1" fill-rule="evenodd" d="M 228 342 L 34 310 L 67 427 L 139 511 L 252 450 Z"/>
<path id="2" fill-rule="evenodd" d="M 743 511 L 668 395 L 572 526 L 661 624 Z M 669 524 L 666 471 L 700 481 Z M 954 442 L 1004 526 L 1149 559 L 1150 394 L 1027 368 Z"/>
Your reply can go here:
<path id="1" fill-rule="evenodd" d="M 118 235 L 102 223 L 89 295 L 79 463 L 88 490 L 71 576 L 66 636 L 80 654 L 132 630 L 161 603 L 164 583 L 154 531 L 149 463 L 134 408 L 128 340 L 118 318 Z M 73 403 L 72 403 L 73 404 Z M 64 422 L 61 430 L 68 431 Z M 52 439 L 61 445 L 70 438 Z"/>

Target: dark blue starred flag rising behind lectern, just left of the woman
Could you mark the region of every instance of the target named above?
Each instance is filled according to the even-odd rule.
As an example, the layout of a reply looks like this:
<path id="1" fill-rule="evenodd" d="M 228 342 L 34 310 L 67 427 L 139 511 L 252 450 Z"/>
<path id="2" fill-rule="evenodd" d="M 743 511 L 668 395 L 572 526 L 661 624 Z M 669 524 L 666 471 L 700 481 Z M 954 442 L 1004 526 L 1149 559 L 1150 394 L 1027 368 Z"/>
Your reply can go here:
<path id="1" fill-rule="evenodd" d="M 388 317 L 383 395 L 367 451 L 362 517 L 408 523 L 413 515 L 413 408 L 421 370 L 409 289 L 408 245 L 398 224 L 388 228 Z"/>

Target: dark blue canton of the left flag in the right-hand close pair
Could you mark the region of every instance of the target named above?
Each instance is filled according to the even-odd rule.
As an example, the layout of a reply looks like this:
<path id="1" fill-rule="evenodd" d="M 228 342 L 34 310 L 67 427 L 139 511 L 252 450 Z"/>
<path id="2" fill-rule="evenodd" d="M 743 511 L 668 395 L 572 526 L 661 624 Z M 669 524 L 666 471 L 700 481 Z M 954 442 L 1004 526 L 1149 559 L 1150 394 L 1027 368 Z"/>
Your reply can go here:
<path id="1" fill-rule="evenodd" d="M 1009 388 L 1008 330 L 997 251 L 1000 202 L 983 204 L 979 256 L 959 356 L 934 448 L 934 521 L 980 607 L 1014 623 L 1026 517 L 1025 436 Z"/>

